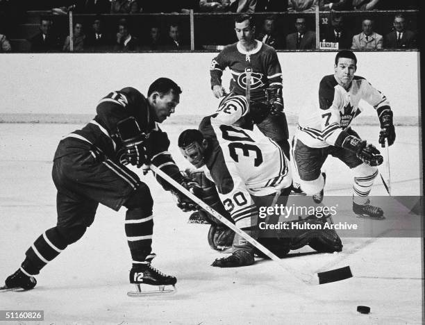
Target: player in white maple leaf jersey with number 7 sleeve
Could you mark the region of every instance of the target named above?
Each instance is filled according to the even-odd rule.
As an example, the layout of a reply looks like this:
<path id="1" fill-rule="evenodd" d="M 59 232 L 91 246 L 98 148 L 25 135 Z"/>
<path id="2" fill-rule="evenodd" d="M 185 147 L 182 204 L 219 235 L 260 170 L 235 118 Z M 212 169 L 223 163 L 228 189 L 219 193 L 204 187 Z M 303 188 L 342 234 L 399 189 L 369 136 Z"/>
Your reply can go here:
<path id="1" fill-rule="evenodd" d="M 381 218 L 383 210 L 369 204 L 369 192 L 378 175 L 376 166 L 383 157 L 376 147 L 360 139 L 351 121 L 362 109 L 361 99 L 374 106 L 381 124 L 378 142 L 391 146 L 396 138 L 390 103 L 367 80 L 354 76 L 357 58 L 352 51 L 335 56 L 335 72 L 324 76 L 319 85 L 319 110 L 313 107 L 299 117 L 295 134 L 294 160 L 301 188 L 320 202 L 324 195 L 321 168 L 330 154 L 347 165 L 353 174 L 353 212 L 361 217 Z"/>

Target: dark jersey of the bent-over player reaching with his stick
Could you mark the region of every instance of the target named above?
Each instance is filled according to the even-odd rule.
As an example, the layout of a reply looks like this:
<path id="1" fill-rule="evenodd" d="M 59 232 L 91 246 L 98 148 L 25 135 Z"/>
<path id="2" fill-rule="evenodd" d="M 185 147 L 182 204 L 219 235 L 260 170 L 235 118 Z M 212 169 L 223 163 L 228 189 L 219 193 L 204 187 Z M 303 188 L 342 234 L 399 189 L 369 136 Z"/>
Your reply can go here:
<path id="1" fill-rule="evenodd" d="M 149 107 L 147 99 L 135 88 L 123 88 L 110 92 L 97 105 L 97 115 L 86 126 L 65 135 L 56 150 L 54 159 L 79 150 L 92 151 L 94 156 L 104 156 L 119 163 L 117 153 L 122 149 L 122 142 L 117 133 L 117 123 L 134 117 L 140 130 L 147 139 L 144 147 L 153 165 L 178 178 L 180 174 L 170 153 L 167 133 L 161 131 L 156 115 Z"/>

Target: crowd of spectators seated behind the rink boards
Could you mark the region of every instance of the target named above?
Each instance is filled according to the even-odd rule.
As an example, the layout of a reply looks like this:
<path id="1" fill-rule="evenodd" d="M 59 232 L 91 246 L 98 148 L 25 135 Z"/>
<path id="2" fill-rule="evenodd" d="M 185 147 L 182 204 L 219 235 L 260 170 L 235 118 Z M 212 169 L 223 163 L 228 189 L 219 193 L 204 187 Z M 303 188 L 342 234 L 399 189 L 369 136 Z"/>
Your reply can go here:
<path id="1" fill-rule="evenodd" d="M 12 51 L 10 45 L 10 17 L 19 21 L 22 18 L 22 0 L 0 0 L 0 52 Z M 145 13 L 188 13 L 194 12 L 295 12 L 291 22 L 281 28 L 276 15 L 270 15 L 258 24 L 256 38 L 275 49 L 306 50 L 316 49 L 315 24 L 303 16 L 303 12 L 331 12 L 328 24 L 320 26 L 319 42 L 338 44 L 339 49 L 412 49 L 417 47 L 417 31 L 408 28 L 408 21 L 402 13 L 397 13 L 392 26 L 383 26 L 376 31 L 377 15 L 369 16 L 372 10 L 418 9 L 418 0 L 39 0 L 51 15 L 67 15 L 69 10 L 79 14 L 91 14 L 92 21 L 76 21 L 72 29 L 72 39 L 58 31 L 54 20 L 45 16 L 40 20 L 39 32 L 28 38 L 30 51 L 180 51 L 190 50 L 190 35 L 182 28 L 181 21 L 165 24 L 129 24 L 128 19 L 119 19 L 110 25 L 102 21 L 105 15 L 130 17 Z M 31 8 L 35 10 L 36 8 Z M 356 24 L 347 24 L 347 15 L 340 11 L 367 11 Z M 299 15 L 297 15 L 297 12 Z M 322 13 L 321 13 L 322 15 Z M 171 19 L 170 19 L 171 18 Z M 116 24 L 116 25 L 115 25 Z M 188 24 L 188 21 L 187 23 Z M 357 26 L 357 24 L 359 26 Z M 382 25 L 382 24 L 381 24 Z M 107 28 L 106 28 L 107 27 Z M 138 29 L 139 28 L 139 29 Z M 190 29 L 189 29 L 190 31 Z M 71 42 L 72 40 L 72 42 Z M 195 40 L 196 42 L 197 40 Z M 207 42 L 208 44 L 208 42 Z M 222 44 L 224 45 L 224 44 Z M 195 45 L 195 49 L 207 48 Z"/>

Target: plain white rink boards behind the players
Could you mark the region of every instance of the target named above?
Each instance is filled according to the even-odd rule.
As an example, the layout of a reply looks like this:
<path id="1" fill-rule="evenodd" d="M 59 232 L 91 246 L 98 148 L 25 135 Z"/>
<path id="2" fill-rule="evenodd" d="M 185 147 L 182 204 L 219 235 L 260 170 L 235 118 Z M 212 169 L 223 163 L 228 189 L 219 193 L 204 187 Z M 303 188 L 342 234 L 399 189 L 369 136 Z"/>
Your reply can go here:
<path id="1" fill-rule="evenodd" d="M 364 76 L 392 103 L 400 119 L 417 121 L 419 53 L 358 52 Z M 49 53 L 0 55 L 0 122 L 80 122 L 92 117 L 101 97 L 133 86 L 147 92 L 160 76 L 183 89 L 175 120 L 206 115 L 217 107 L 208 69 L 215 53 Z M 333 74 L 335 52 L 281 52 L 283 93 L 290 122 L 299 110 L 317 101 L 320 79 Z M 224 85 L 228 87 L 228 73 Z M 365 105 L 368 106 L 368 105 Z M 365 109 L 366 119 L 374 115 Z M 32 119 L 38 117 L 39 119 Z M 365 119 L 365 117 L 363 117 Z M 374 119 L 375 120 L 375 119 Z M 397 122 L 397 121 L 396 121 Z"/>

